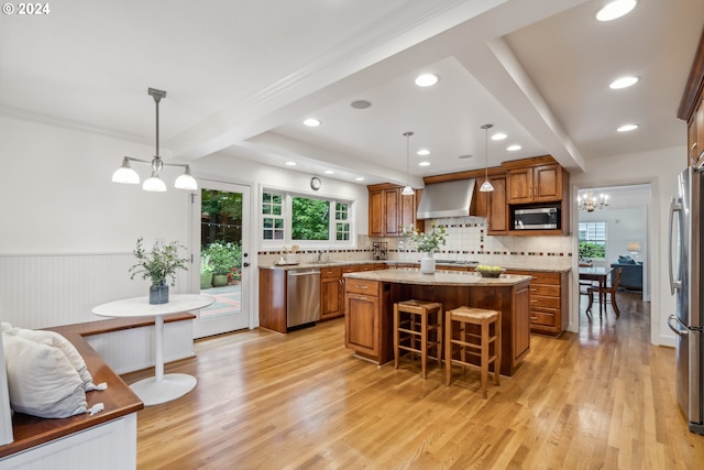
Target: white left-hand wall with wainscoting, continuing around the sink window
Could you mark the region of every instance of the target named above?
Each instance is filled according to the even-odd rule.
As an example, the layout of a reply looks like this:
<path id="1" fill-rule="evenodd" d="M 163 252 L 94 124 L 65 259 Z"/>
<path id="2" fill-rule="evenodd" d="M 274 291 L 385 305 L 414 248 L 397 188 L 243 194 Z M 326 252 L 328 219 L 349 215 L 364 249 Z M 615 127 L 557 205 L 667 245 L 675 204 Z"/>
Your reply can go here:
<path id="1" fill-rule="evenodd" d="M 95 305 L 146 295 L 148 282 L 128 273 L 136 239 L 144 237 L 147 247 L 156 239 L 187 245 L 193 219 L 189 194 L 173 188 L 178 168 L 164 170 L 168 190 L 161 194 L 110 181 L 122 156 L 151 160 L 153 153 L 151 144 L 0 117 L 0 273 L 11 281 L 0 285 L 1 320 L 26 328 L 96 320 Z M 133 167 L 142 181 L 148 176 L 148 166 Z M 193 173 L 252 187 L 255 251 L 261 184 L 312 194 L 311 175 L 231 156 L 198 161 Z M 366 233 L 365 186 L 323 178 L 316 194 L 358 200 L 356 232 Z M 188 275 L 179 274 L 172 292 L 189 292 Z M 253 286 L 253 300 L 255 294 Z"/>

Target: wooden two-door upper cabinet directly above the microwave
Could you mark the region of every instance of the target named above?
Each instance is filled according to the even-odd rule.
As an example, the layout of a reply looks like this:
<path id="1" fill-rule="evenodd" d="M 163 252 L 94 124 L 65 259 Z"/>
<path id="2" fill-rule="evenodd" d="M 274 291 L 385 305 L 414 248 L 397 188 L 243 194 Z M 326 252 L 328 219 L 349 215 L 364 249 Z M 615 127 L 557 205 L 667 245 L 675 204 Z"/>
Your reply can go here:
<path id="1" fill-rule="evenodd" d="M 561 201 L 563 172 L 557 163 L 509 170 L 508 204 Z"/>

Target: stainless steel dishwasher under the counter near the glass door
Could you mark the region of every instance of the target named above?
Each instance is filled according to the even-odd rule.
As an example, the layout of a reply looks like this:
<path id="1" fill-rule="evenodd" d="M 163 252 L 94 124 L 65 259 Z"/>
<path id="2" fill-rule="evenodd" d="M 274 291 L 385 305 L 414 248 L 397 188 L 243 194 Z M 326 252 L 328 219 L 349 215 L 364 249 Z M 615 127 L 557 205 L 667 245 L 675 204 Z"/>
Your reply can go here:
<path id="1" fill-rule="evenodd" d="M 320 270 L 289 270 L 286 286 L 286 328 L 320 319 Z"/>

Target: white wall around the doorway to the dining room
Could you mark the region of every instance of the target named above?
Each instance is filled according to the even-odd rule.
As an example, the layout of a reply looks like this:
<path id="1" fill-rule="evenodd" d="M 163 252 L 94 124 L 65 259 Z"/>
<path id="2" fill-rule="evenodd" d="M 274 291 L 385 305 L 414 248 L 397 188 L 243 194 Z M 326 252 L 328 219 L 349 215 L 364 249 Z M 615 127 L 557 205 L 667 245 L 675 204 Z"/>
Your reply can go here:
<path id="1" fill-rule="evenodd" d="M 683 142 L 686 140 L 684 132 L 682 139 Z M 685 166 L 686 146 L 683 145 L 592 160 L 585 173 L 570 175 L 573 198 L 580 188 L 651 184 L 652 204 L 648 220 L 650 258 L 647 261 L 652 274 L 651 337 L 656 345 L 674 345 L 674 336 L 667 326 L 668 316 L 674 311 L 674 297 L 670 295 L 667 269 L 668 214 L 670 197 L 676 194 L 676 176 Z M 578 217 L 575 211 L 574 223 Z M 574 256 L 573 272 L 576 270 Z M 575 289 L 575 285 L 572 285 L 572 289 Z M 579 325 L 578 306 L 579 295 L 572 295 L 571 325 Z"/>

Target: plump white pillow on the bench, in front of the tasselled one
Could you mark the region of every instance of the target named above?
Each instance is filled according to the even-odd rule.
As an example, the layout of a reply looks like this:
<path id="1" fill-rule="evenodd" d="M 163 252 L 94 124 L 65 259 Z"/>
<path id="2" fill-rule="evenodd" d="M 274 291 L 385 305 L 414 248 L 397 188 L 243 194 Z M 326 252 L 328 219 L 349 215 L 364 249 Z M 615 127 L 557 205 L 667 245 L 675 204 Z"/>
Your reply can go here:
<path id="1" fill-rule="evenodd" d="M 2 342 L 12 409 L 43 418 L 88 411 L 80 375 L 61 349 L 7 332 Z"/>

